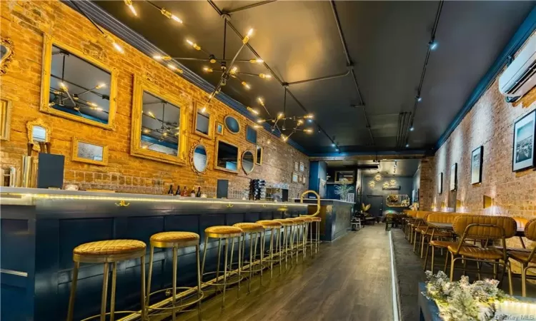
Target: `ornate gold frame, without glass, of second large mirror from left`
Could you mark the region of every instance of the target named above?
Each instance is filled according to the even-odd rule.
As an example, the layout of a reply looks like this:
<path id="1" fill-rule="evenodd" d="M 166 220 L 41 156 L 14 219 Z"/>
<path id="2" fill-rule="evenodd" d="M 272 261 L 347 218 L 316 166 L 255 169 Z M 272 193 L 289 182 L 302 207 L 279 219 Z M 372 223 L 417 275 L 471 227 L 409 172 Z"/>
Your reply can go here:
<path id="1" fill-rule="evenodd" d="M 169 101 L 169 103 L 179 106 L 181 108 L 180 128 L 179 135 L 179 151 L 177 156 L 167 155 L 156 151 L 150 151 L 140 147 L 141 138 L 139 133 L 142 132 L 142 108 L 143 108 L 143 94 L 144 91 L 151 93 L 154 96 Z M 165 163 L 185 165 L 186 164 L 186 148 L 187 148 L 187 106 L 189 101 L 186 99 L 175 96 L 170 91 L 166 91 L 154 83 L 145 81 L 141 76 L 134 75 L 134 93 L 132 97 L 132 122 L 131 122 L 131 138 L 130 138 L 130 155 L 152 159 L 154 161 L 162 161 Z"/>

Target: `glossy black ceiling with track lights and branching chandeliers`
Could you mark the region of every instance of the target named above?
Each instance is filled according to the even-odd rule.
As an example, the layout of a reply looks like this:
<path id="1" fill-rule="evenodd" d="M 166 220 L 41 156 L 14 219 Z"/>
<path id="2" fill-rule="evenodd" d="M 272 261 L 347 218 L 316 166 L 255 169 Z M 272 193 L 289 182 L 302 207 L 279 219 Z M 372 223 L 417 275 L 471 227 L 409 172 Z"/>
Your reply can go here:
<path id="1" fill-rule="evenodd" d="M 154 1 L 179 16 L 183 25 L 166 19 L 146 1 L 134 1 L 138 16 L 123 1 L 95 1 L 170 56 L 208 58 L 187 46 L 185 40 L 222 58 L 224 19 L 208 1 Z M 218 9 L 234 9 L 257 1 L 214 1 Z M 264 1 L 263 1 L 264 2 Z M 434 26 L 437 1 L 336 1 L 340 26 L 362 100 L 352 74 L 326 81 L 289 86 L 315 121 L 341 146 L 342 151 L 393 151 L 397 149 L 399 113 L 411 112 L 422 66 Z M 535 5 L 534 1 L 445 1 L 422 87 L 422 102 L 415 113 L 410 148 L 432 148 L 460 111 L 480 78 Z M 284 82 L 344 73 L 347 59 L 329 1 L 274 1 L 230 14 L 231 23 L 245 34 L 255 34 L 249 44 Z M 232 58 L 241 39 L 227 28 L 226 58 Z M 245 48 L 239 59 L 255 58 Z M 184 66 L 216 84 L 217 73 L 205 74 L 198 61 Z M 262 65 L 240 63 L 239 71 L 266 73 Z M 264 97 L 272 114 L 283 110 L 284 88 L 276 79 L 243 77 L 247 90 L 230 80 L 223 92 L 244 106 L 259 107 Z M 288 116 L 303 116 L 303 109 L 287 98 Z M 367 115 L 374 145 L 367 129 Z M 295 133 L 292 139 L 309 153 L 332 152 L 326 134 Z"/>

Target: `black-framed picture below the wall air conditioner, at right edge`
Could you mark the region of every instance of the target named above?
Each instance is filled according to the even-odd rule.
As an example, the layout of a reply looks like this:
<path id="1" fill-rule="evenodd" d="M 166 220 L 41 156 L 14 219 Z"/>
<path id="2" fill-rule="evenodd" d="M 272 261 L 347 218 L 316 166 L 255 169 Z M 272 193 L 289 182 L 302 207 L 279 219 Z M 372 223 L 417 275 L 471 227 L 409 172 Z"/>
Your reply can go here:
<path id="1" fill-rule="evenodd" d="M 536 111 L 523 116 L 514 125 L 512 171 L 525 170 L 535 165 Z"/>

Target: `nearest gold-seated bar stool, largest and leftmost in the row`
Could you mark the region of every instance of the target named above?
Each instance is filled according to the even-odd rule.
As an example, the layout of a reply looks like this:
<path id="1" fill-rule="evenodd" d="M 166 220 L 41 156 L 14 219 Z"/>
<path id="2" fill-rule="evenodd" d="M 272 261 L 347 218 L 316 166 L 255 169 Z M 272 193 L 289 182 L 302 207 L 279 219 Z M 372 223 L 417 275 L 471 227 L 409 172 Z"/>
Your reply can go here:
<path id="1" fill-rule="evenodd" d="M 110 316 L 110 321 L 115 320 L 115 292 L 117 279 L 117 262 L 139 258 L 141 262 L 142 278 L 142 320 L 145 320 L 145 249 L 147 245 L 139 240 L 102 240 L 78 245 L 73 250 L 73 278 L 71 284 L 71 295 L 69 297 L 69 310 L 67 321 L 73 320 L 74 298 L 76 295 L 76 282 L 78 281 L 78 270 L 80 263 L 104 263 L 104 274 L 102 277 L 101 313 L 100 320 L 105 321 L 106 315 Z M 111 302 L 110 312 L 106 313 L 106 295 L 108 292 L 109 263 L 111 263 Z M 130 311 L 129 311 L 130 312 Z M 89 317 L 88 319 L 93 319 Z"/>

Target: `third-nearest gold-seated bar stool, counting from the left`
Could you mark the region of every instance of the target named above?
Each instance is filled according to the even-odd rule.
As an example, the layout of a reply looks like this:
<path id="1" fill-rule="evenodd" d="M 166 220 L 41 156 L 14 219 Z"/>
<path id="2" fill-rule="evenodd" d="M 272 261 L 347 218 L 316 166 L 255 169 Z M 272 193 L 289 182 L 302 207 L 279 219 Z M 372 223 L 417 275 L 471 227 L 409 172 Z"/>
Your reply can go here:
<path id="1" fill-rule="evenodd" d="M 228 250 L 229 250 L 229 239 L 231 241 L 231 258 L 230 258 L 230 266 L 233 264 L 233 251 L 234 251 L 234 238 L 238 238 L 238 257 L 240 258 L 241 250 L 240 250 L 240 237 L 242 236 L 242 229 L 237 228 L 235 226 L 227 226 L 227 225 L 219 225 L 219 226 L 211 226 L 209 228 L 206 228 L 204 230 L 205 238 L 204 238 L 204 251 L 203 251 L 203 264 L 201 267 L 201 275 L 204 277 L 205 275 L 209 274 L 216 274 L 216 278 L 212 282 L 203 282 L 205 284 L 209 285 L 215 285 L 223 286 L 223 297 L 222 297 L 222 308 L 225 304 L 225 290 L 227 288 L 227 285 L 233 285 L 235 283 L 238 283 L 238 292 L 240 292 L 240 270 L 242 268 L 240 260 L 238 261 L 238 271 L 234 271 L 231 269 L 231 271 L 227 272 L 227 257 L 228 257 Z M 207 245 L 209 243 L 209 238 L 217 238 L 218 239 L 218 263 L 216 267 L 216 272 L 204 272 L 204 264 L 207 259 Z M 220 267 L 220 257 L 222 256 L 222 240 L 225 241 L 225 253 L 224 253 L 224 274 L 223 274 L 223 282 L 219 282 L 219 267 Z M 227 275 L 237 275 L 237 280 L 232 282 L 227 282 Z M 239 293 L 238 293 L 239 295 Z"/>

